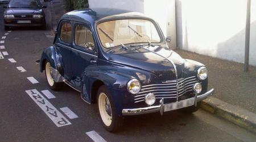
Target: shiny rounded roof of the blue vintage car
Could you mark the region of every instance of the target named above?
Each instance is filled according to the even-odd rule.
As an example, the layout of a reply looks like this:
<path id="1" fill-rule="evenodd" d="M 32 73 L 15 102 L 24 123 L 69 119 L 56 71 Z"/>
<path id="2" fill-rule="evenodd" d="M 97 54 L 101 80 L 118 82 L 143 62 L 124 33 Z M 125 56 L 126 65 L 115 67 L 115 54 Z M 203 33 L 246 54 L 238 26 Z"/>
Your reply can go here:
<path id="1" fill-rule="evenodd" d="M 135 17 L 135 18 L 147 18 L 144 14 L 140 12 L 133 12 L 121 9 L 108 9 L 108 8 L 95 8 L 95 9 L 81 9 L 68 12 L 64 14 L 60 20 L 76 20 L 78 22 L 84 22 L 91 25 L 94 23 L 114 18 L 123 17 Z"/>

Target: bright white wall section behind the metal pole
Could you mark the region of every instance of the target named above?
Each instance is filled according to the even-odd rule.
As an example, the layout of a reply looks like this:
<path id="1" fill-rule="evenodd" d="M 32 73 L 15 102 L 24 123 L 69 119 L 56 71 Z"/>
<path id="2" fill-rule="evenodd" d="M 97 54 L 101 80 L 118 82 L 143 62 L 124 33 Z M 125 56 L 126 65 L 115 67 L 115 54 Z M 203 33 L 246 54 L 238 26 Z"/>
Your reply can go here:
<path id="1" fill-rule="evenodd" d="M 250 64 L 256 66 L 256 2 L 251 1 Z M 176 0 L 177 46 L 244 62 L 246 0 Z"/>

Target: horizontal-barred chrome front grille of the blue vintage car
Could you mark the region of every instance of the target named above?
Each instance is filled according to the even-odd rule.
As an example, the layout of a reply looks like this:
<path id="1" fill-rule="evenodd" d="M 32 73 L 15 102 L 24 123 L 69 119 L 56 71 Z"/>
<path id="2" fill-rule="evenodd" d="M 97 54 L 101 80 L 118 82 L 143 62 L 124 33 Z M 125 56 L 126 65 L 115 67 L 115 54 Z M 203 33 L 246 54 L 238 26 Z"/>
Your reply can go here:
<path id="1" fill-rule="evenodd" d="M 180 78 L 179 80 L 165 81 L 159 84 L 145 85 L 142 86 L 141 91 L 135 95 L 134 102 L 144 101 L 144 97 L 148 93 L 155 94 L 156 99 L 177 99 L 185 93 L 193 92 L 193 85 L 199 82 L 196 76 L 188 78 Z M 177 93 L 177 83 L 178 93 Z"/>

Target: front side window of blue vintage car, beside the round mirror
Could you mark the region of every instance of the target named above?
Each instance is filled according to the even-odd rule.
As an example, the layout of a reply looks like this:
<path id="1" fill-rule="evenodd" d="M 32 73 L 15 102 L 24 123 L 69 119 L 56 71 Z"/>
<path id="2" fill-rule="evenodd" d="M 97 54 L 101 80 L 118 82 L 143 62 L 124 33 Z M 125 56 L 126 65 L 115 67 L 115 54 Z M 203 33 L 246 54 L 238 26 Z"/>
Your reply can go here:
<path id="1" fill-rule="evenodd" d="M 94 50 L 94 40 L 92 32 L 81 25 L 77 25 L 75 29 L 75 44 L 85 48 L 86 50 Z"/>

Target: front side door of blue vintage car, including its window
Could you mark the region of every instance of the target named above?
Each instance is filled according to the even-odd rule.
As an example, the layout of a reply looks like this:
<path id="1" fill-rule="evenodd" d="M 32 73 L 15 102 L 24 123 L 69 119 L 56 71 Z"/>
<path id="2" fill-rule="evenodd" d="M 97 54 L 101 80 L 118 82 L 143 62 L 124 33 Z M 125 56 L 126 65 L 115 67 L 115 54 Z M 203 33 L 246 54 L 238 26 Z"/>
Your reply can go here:
<path id="1" fill-rule="evenodd" d="M 85 101 L 90 102 L 86 88 L 89 81 L 84 80 L 86 72 L 97 65 L 97 48 L 90 27 L 82 23 L 74 23 L 73 27 L 73 48 L 72 48 L 72 69 L 73 76 L 71 83 L 78 90 L 83 91 Z"/>

